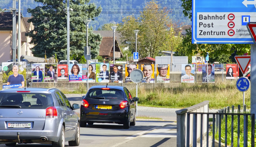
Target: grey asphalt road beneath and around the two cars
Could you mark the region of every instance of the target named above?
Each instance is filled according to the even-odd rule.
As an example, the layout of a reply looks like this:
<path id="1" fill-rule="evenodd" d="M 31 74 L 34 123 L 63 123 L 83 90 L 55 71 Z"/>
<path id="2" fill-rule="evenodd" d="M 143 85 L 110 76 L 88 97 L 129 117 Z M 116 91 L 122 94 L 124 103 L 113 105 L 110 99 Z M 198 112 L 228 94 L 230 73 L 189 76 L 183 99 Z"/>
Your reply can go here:
<path id="1" fill-rule="evenodd" d="M 81 104 L 81 96 L 67 96 L 70 103 Z M 76 110 L 79 113 L 79 109 Z M 176 113 L 174 109 L 138 107 L 138 115 L 163 118 L 164 121 L 137 120 L 135 126 L 94 123 L 80 128 L 80 145 L 86 147 L 174 147 L 176 146 Z M 68 142 L 65 143 L 68 146 Z M 0 147 L 4 147 L 1 144 Z M 17 144 L 19 147 L 51 146 L 43 144 Z"/>

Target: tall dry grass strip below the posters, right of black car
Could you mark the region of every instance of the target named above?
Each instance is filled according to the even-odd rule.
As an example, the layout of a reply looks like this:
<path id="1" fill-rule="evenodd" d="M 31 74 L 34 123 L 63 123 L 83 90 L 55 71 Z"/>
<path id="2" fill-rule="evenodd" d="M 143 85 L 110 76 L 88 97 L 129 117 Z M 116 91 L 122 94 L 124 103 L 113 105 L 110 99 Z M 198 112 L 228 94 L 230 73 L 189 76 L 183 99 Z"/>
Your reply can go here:
<path id="1" fill-rule="evenodd" d="M 136 91 L 131 90 L 133 96 Z M 210 109 L 219 109 L 231 105 L 243 104 L 243 92 L 236 89 L 235 83 L 186 84 L 166 88 L 155 87 L 138 89 L 138 104 L 167 108 L 186 108 L 209 100 Z M 250 107 L 250 89 L 245 92 L 245 103 Z"/>

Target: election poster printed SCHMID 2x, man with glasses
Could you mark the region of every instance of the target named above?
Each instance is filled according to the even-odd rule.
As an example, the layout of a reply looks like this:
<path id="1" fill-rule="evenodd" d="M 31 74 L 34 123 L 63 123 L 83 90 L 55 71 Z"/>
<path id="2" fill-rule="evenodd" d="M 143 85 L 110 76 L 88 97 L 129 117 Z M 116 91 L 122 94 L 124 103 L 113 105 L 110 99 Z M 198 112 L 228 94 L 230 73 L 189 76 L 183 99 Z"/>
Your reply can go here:
<path id="1" fill-rule="evenodd" d="M 181 82 L 184 82 L 184 83 L 195 82 L 195 65 L 194 64 L 182 64 Z"/>

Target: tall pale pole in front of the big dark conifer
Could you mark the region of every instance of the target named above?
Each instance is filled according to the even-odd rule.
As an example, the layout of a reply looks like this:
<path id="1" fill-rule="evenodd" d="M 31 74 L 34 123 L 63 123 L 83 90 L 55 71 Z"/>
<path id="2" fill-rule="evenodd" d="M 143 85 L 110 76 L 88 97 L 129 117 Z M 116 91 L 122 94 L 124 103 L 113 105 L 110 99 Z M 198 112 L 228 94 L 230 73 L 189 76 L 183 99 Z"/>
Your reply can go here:
<path id="1" fill-rule="evenodd" d="M 69 8 L 69 1 L 67 0 L 67 9 L 63 9 L 63 11 L 67 11 L 67 64 L 69 69 L 69 10 L 73 11 L 72 8 Z"/>

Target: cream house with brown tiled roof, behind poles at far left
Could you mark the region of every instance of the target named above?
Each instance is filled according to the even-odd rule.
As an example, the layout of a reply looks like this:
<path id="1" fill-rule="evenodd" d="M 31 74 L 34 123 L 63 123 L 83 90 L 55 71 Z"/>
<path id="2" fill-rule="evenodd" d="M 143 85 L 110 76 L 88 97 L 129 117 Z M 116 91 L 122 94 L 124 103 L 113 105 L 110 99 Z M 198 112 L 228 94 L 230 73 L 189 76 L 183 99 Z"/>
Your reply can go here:
<path id="1" fill-rule="evenodd" d="M 12 59 L 12 30 L 13 30 L 13 20 L 12 20 L 12 12 L 1 12 L 0 13 L 0 62 L 7 62 Z M 27 20 L 29 18 L 21 17 L 20 21 L 20 32 L 21 32 L 21 55 L 29 55 L 31 54 L 30 48 L 33 45 L 30 45 L 30 38 L 25 36 L 25 32 L 34 28 L 33 24 L 28 23 Z M 18 45 L 18 17 L 16 16 L 16 44 Z M 18 46 L 16 45 L 16 49 Z M 17 53 L 17 51 L 16 51 Z"/>

